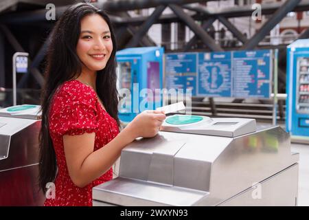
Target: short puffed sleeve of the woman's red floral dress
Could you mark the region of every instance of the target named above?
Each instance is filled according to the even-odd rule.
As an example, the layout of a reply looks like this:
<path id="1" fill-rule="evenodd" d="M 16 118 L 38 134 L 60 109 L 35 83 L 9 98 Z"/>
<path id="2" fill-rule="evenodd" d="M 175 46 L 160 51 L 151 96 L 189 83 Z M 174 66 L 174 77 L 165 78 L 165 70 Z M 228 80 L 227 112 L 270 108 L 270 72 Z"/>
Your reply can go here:
<path id="1" fill-rule="evenodd" d="M 58 135 L 82 135 L 98 129 L 93 96 L 61 92 L 54 100 L 49 129 Z"/>

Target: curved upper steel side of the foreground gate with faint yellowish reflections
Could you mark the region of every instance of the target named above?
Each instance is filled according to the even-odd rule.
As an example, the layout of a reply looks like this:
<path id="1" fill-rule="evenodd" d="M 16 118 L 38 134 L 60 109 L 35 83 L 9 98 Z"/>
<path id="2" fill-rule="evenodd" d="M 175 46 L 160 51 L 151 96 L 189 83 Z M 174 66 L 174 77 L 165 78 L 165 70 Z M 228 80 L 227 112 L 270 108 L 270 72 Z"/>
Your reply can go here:
<path id="1" fill-rule="evenodd" d="M 298 161 L 279 126 L 237 137 L 212 165 L 210 192 L 222 201 Z M 224 174 L 224 175 L 222 175 Z"/>

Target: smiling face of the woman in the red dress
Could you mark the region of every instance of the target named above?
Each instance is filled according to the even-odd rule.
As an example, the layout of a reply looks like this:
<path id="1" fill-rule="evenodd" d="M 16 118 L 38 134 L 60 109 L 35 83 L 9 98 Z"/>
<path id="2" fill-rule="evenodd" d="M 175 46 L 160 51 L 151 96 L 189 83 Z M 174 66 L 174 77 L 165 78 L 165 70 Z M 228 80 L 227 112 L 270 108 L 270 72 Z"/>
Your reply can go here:
<path id="1" fill-rule="evenodd" d="M 96 72 L 104 69 L 113 51 L 111 32 L 99 14 L 91 14 L 80 22 L 80 38 L 76 53 L 82 61 L 82 69 Z"/>

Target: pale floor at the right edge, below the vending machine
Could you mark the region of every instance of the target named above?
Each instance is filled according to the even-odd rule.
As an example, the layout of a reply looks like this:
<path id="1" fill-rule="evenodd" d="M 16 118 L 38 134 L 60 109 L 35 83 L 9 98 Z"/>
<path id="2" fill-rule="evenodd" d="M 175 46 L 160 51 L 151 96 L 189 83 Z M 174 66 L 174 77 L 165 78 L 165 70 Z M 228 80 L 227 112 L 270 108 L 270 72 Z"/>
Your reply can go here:
<path id="1" fill-rule="evenodd" d="M 291 144 L 299 153 L 298 206 L 309 206 L 309 144 Z"/>

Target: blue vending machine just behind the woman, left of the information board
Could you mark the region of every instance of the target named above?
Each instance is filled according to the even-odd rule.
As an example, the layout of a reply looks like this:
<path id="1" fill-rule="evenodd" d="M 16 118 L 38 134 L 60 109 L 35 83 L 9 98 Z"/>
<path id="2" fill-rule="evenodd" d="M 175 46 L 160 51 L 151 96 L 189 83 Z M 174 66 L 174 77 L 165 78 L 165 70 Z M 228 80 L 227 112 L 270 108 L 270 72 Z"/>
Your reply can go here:
<path id="1" fill-rule="evenodd" d="M 163 47 L 134 47 L 117 52 L 120 121 L 130 122 L 141 111 L 162 106 L 159 89 L 163 87 L 163 53 Z"/>

